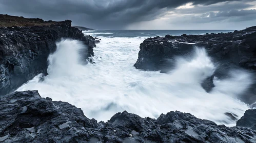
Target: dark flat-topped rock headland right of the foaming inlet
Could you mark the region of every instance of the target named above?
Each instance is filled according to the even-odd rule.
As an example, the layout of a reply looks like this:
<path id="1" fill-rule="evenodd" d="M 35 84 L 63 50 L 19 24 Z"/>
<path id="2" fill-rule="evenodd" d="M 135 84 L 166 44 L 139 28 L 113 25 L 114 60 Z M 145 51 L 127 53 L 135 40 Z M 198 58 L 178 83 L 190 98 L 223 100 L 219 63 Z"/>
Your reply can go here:
<path id="1" fill-rule="evenodd" d="M 148 38 L 141 43 L 139 58 L 134 66 L 165 73 L 174 56 L 191 52 L 195 45 L 205 47 L 215 59 L 256 69 L 256 27 L 229 33 Z"/>

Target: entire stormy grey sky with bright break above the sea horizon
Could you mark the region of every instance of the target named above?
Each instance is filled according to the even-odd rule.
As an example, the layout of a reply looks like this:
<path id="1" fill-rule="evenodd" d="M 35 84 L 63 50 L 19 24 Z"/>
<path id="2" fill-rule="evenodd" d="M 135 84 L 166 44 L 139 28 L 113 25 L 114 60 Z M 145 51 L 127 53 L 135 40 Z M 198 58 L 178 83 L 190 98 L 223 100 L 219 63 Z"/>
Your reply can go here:
<path id="1" fill-rule="evenodd" d="M 1 0 L 0 13 L 104 30 L 256 26 L 256 0 Z"/>

